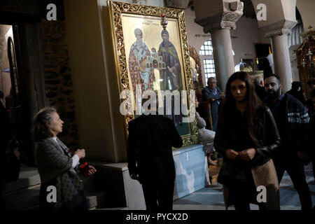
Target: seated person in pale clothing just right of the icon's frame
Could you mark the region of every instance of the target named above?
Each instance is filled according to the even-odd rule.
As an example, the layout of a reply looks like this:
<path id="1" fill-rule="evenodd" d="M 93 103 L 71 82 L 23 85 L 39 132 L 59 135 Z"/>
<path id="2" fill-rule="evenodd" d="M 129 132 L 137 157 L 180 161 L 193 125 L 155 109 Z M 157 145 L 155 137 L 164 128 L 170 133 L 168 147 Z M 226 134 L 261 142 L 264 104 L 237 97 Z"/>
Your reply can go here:
<path id="1" fill-rule="evenodd" d="M 199 102 L 196 98 L 196 108 L 198 108 Z M 207 160 L 209 165 L 216 166 L 216 162 L 211 159 L 211 155 L 214 154 L 214 136 L 216 132 L 206 129 L 206 122 L 203 118 L 200 117 L 199 113 L 196 111 L 196 118 L 197 118 L 197 127 L 199 132 L 199 139 L 202 141 L 204 145 L 204 153 L 207 155 Z"/>

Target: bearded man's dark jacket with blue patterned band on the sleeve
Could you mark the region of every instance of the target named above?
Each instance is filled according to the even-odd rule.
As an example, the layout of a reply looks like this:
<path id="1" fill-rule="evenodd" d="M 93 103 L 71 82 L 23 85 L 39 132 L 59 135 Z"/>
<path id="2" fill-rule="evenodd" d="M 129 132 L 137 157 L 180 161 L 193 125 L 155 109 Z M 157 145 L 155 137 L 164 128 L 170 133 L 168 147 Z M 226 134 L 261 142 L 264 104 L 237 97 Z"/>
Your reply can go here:
<path id="1" fill-rule="evenodd" d="M 297 151 L 307 153 L 309 115 L 303 104 L 290 94 L 284 94 L 278 106 L 268 104 L 267 99 L 265 102 L 272 110 L 281 137 L 276 158 L 288 161 L 297 158 Z"/>

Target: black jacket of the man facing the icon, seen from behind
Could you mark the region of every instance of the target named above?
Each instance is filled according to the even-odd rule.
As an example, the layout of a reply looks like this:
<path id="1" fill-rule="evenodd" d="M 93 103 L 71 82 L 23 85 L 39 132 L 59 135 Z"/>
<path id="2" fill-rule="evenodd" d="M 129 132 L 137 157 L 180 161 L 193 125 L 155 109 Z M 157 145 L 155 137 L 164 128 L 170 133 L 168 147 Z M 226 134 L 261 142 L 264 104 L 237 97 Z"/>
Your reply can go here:
<path id="1" fill-rule="evenodd" d="M 130 174 L 139 181 L 168 183 L 175 180 L 172 146 L 179 148 L 183 139 L 174 121 L 161 115 L 142 115 L 129 123 L 127 160 Z"/>

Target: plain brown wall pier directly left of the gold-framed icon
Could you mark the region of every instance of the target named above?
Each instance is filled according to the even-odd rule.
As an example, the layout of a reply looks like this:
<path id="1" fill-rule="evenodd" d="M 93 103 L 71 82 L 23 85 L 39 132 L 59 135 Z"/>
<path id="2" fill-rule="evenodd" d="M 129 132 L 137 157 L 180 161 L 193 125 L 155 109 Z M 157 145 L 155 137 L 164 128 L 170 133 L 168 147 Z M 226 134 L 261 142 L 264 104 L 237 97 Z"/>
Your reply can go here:
<path id="1" fill-rule="evenodd" d="M 73 93 L 80 145 L 87 157 L 109 162 L 121 160 L 116 153 L 111 118 L 103 40 L 97 0 L 64 1 L 66 38 L 73 71 Z M 118 103 L 118 102 L 117 102 Z"/>

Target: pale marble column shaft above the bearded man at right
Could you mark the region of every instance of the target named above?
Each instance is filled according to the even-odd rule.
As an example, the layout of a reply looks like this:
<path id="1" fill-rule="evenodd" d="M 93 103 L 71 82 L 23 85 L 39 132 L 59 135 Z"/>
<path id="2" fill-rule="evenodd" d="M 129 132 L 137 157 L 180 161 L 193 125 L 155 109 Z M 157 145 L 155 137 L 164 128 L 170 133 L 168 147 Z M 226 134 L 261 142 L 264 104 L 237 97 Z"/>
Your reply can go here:
<path id="1" fill-rule="evenodd" d="M 274 72 L 283 83 L 283 92 L 290 90 L 293 82 L 290 52 L 288 48 L 288 34 L 271 37 L 272 55 L 274 57 Z"/>

